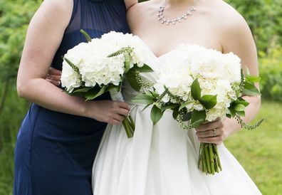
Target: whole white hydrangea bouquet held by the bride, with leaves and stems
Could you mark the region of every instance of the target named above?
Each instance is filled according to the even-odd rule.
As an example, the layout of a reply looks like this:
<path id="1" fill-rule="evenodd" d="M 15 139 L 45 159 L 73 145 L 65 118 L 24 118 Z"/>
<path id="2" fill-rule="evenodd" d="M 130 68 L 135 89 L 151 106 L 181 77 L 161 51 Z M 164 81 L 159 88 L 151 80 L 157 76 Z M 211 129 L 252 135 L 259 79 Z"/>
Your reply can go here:
<path id="1" fill-rule="evenodd" d="M 249 105 L 241 96 L 261 95 L 254 85 L 259 80 L 254 75 L 244 76 L 241 60 L 233 53 L 182 45 L 166 55 L 156 83 L 135 97 L 135 102 L 153 105 L 154 125 L 170 109 L 186 130 L 223 117 L 235 117 L 242 127 L 250 130 L 262 120 L 253 126 L 241 120 Z M 221 170 L 216 144 L 200 144 L 199 169 L 206 174 Z"/>

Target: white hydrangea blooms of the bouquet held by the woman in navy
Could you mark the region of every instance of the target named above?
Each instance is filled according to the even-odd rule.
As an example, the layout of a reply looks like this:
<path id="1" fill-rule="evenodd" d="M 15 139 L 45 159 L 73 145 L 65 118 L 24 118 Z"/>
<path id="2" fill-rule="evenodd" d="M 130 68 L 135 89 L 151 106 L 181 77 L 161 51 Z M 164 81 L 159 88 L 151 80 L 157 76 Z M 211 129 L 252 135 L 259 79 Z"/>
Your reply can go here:
<path id="1" fill-rule="evenodd" d="M 68 92 L 81 85 L 94 87 L 95 85 L 120 85 L 122 76 L 125 73 L 125 57 L 123 54 L 108 57 L 110 54 L 119 51 L 121 48 L 131 47 L 132 60 L 130 68 L 134 64 L 141 67 L 147 60 L 148 51 L 142 41 L 132 34 L 123 34 L 111 31 L 101 38 L 94 38 L 90 43 L 80 43 L 70 49 L 64 56 L 68 58 L 78 69 L 76 73 L 66 61 L 63 61 L 62 86 Z"/>

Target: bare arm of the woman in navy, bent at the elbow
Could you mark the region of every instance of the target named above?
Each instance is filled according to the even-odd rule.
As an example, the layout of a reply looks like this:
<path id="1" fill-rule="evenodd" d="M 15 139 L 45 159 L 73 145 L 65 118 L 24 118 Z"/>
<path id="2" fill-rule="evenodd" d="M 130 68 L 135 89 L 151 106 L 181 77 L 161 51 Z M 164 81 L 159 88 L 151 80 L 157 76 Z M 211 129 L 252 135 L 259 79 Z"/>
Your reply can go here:
<path id="1" fill-rule="evenodd" d="M 26 34 L 17 78 L 20 97 L 50 110 L 119 124 L 129 107 L 124 102 L 89 101 L 63 93 L 45 78 L 71 19 L 73 1 L 46 0 Z"/>

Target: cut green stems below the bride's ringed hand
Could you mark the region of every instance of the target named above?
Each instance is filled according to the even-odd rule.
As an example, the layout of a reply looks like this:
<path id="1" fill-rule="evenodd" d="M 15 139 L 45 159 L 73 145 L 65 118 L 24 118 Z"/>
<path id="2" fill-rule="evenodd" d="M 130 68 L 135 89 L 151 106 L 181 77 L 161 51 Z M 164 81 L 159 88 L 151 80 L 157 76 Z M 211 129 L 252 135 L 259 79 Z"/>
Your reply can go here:
<path id="1" fill-rule="evenodd" d="M 215 174 L 222 170 L 216 144 L 201 142 L 199 148 L 198 169 L 206 174 Z"/>

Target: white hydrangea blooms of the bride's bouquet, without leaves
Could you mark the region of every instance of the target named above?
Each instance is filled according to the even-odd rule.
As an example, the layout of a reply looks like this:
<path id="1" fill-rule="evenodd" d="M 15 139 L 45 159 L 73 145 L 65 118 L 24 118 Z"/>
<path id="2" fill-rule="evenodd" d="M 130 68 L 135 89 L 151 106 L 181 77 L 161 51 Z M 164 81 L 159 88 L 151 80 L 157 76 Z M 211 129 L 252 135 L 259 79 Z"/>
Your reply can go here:
<path id="1" fill-rule="evenodd" d="M 207 112 L 207 120 L 216 120 L 229 112 L 231 101 L 236 100 L 232 86 L 238 86 L 241 80 L 241 60 L 234 53 L 220 53 L 214 49 L 197 45 L 181 45 L 167 53 L 160 70 L 155 89 L 158 94 L 164 92 L 164 86 L 172 95 L 189 102 L 187 110 L 205 110 L 204 106 L 193 100 L 191 85 L 198 79 L 201 96 L 216 95 L 216 105 Z M 163 99 L 169 101 L 169 97 Z M 170 102 L 177 102 L 170 100 Z"/>

